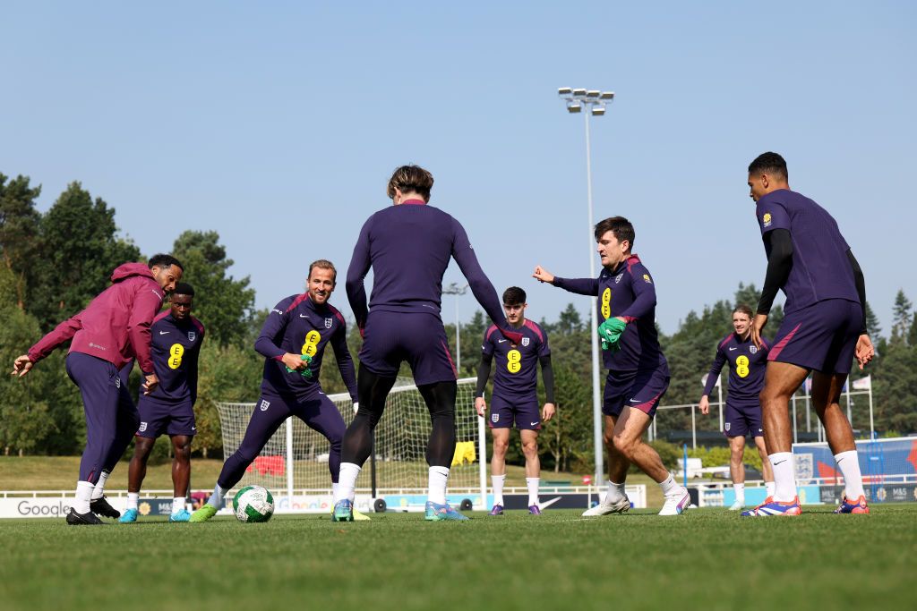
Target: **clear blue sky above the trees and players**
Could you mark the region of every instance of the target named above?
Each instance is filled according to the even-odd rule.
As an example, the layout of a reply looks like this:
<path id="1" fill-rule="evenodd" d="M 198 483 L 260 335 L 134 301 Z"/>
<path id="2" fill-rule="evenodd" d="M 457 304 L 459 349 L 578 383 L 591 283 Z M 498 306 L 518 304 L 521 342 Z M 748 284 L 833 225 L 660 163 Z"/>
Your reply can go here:
<path id="1" fill-rule="evenodd" d="M 345 273 L 418 163 L 497 289 L 553 320 L 587 301 L 532 268 L 586 276 L 592 250 L 583 120 L 557 88 L 613 90 L 596 217 L 634 222 L 665 332 L 760 286 L 746 167 L 765 150 L 834 214 L 884 333 L 896 291 L 917 300 L 912 3 L 386 4 L 5 3 L 0 171 L 40 183 L 42 210 L 81 180 L 146 254 L 216 230 L 265 307 L 315 258 Z M 332 302 L 349 313 L 343 284 Z"/>

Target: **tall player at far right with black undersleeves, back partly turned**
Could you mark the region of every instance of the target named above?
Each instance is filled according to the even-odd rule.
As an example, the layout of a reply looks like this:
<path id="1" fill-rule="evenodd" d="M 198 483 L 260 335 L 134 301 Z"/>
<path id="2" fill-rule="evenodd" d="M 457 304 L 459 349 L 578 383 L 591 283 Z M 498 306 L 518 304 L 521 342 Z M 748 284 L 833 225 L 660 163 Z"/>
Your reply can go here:
<path id="1" fill-rule="evenodd" d="M 790 447 L 790 397 L 812 371 L 812 403 L 844 475 L 845 495 L 835 513 L 867 514 L 853 430 L 839 404 L 853 359 L 862 369 L 875 354 L 866 328 L 863 272 L 831 214 L 790 191 L 787 162 L 777 153 L 764 153 L 751 162 L 748 188 L 757 203 L 768 255 L 751 332 L 756 345 L 761 345 L 761 331 L 778 289 L 787 301 L 761 391 L 774 496 L 742 515 L 801 513 Z"/>

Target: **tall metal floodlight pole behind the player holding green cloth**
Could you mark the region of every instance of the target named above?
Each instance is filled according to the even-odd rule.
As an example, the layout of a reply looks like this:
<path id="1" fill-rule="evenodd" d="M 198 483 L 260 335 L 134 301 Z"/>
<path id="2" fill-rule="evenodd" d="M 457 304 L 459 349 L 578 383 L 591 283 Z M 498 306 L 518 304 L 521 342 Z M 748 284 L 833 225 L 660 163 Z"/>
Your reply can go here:
<path id="1" fill-rule="evenodd" d="M 589 212 L 589 274 L 590 278 L 595 278 L 595 243 L 592 235 L 595 225 L 592 219 L 592 154 L 589 141 L 589 116 L 602 116 L 605 114 L 606 104 L 611 104 L 614 99 L 613 92 L 600 92 L 597 90 L 570 89 L 561 87 L 558 89 L 560 97 L 567 101 L 567 111 L 570 114 L 582 112 L 583 106 L 587 112 L 583 113 L 586 121 L 586 199 L 588 202 Z M 599 382 L 599 314 L 598 298 L 592 297 L 591 303 L 591 335 L 592 335 L 592 429 L 595 443 L 595 484 L 600 486 L 604 481 L 604 443 L 602 442 L 602 391 Z"/>

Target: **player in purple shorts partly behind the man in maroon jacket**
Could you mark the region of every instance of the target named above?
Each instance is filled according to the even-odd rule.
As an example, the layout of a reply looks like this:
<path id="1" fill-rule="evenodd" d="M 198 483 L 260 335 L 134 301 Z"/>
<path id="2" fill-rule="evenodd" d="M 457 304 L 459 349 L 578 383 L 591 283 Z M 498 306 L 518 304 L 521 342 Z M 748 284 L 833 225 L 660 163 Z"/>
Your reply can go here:
<path id="1" fill-rule="evenodd" d="M 179 282 L 171 293 L 169 310 L 153 321 L 152 357 L 160 384 L 138 400 L 140 425 L 127 471 L 127 509 L 118 520 L 122 524 L 137 521 L 140 486 L 147 475 L 149 453 L 163 433 L 171 438 L 174 452 L 169 521 L 187 522 L 191 518 L 185 498 L 191 480 L 191 441 L 196 431 L 197 360 L 204 343 L 204 325 L 191 315 L 193 300 L 192 286 Z"/>

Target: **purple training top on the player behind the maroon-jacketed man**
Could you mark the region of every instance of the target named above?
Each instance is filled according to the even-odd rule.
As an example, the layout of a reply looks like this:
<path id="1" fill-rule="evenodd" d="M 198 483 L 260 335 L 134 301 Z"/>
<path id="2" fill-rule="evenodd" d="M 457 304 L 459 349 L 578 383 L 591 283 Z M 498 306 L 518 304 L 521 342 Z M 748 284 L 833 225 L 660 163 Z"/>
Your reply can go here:
<path id="1" fill-rule="evenodd" d="M 204 342 L 204 325 L 193 316 L 179 322 L 170 311 L 160 313 L 150 327 L 151 353 L 160 384 L 149 394 L 170 403 L 197 400 L 197 357 Z"/>

